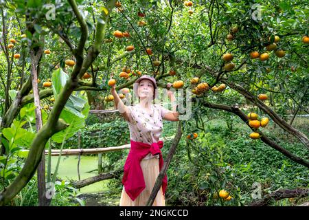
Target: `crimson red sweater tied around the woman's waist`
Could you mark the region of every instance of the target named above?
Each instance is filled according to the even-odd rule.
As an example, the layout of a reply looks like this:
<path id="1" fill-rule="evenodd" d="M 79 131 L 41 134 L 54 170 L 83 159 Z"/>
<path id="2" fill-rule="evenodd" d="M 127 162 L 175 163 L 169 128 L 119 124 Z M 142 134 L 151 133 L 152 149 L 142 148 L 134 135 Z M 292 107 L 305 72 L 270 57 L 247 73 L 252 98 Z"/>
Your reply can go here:
<path id="1" fill-rule="evenodd" d="M 141 170 L 141 160 L 151 153 L 152 155 L 159 154 L 159 168 L 163 167 L 163 157 L 161 148 L 163 142 L 160 140 L 157 143 L 146 144 L 142 142 L 135 142 L 130 140 L 131 148 L 124 164 L 124 177 L 122 178 L 122 184 L 124 184 L 124 190 L 128 196 L 134 201 L 139 194 L 146 188 L 143 170 Z M 162 181 L 162 191 L 165 195 L 165 188 L 168 185 L 168 177 L 164 176 Z"/>

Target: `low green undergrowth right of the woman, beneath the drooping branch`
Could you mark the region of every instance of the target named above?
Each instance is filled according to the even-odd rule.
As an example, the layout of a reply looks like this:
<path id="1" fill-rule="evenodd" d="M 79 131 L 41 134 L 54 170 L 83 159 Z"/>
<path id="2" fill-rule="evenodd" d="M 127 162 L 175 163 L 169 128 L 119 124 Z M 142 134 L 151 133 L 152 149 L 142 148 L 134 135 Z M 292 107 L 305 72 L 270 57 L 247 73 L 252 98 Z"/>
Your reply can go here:
<path id="1" fill-rule="evenodd" d="M 304 166 L 260 141 L 247 140 L 242 129 L 226 135 L 230 130 L 223 120 L 208 124 L 207 133 L 199 133 L 196 140 L 189 141 L 189 147 L 182 140 L 176 150 L 168 170 L 166 198 L 170 205 L 244 206 L 252 201 L 255 182 L 261 184 L 262 195 L 280 188 L 308 188 L 309 172 Z M 168 148 L 170 142 L 166 144 Z M 306 155 L 297 144 L 282 146 Z M 231 201 L 218 199 L 216 193 L 223 188 L 233 197 Z"/>

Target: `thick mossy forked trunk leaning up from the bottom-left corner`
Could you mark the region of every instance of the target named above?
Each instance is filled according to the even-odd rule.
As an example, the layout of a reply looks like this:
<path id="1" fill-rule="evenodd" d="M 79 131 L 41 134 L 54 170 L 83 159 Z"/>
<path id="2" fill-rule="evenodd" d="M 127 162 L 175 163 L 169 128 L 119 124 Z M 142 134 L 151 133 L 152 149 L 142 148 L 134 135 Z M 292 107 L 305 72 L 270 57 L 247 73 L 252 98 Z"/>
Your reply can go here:
<path id="1" fill-rule="evenodd" d="M 88 36 L 88 30 L 87 25 L 82 19 L 80 12 L 78 11 L 78 7 L 76 5 L 76 2 L 73 0 L 69 0 L 69 3 L 71 7 L 73 8 L 73 12 L 76 14 L 76 17 L 78 18 L 78 22 L 81 25 L 81 32 L 82 36 L 80 38 L 80 42 L 78 44 L 78 49 L 75 50 L 74 56 L 76 56 L 77 63 L 73 69 L 73 73 L 71 75 L 71 78 L 67 80 L 67 83 L 63 87 L 63 89 L 60 91 L 60 94 L 58 98 L 56 99 L 56 102 L 54 103 L 54 107 L 49 114 L 49 118 L 46 122 L 46 124 L 43 125 L 43 127 L 38 131 L 36 136 L 34 137 L 34 140 L 31 144 L 29 155 L 26 159 L 25 165 L 23 166 L 23 169 L 21 170 L 21 173 L 14 179 L 12 184 L 8 186 L 8 188 L 5 188 L 3 192 L 0 193 L 0 206 L 3 206 L 5 203 L 8 203 L 12 198 L 14 198 L 17 193 L 21 191 L 23 187 L 27 184 L 28 181 L 33 177 L 36 168 L 38 167 L 39 162 L 41 161 L 41 157 L 43 154 L 43 151 L 45 149 L 45 144 L 47 140 L 49 140 L 50 137 L 54 133 L 57 133 L 58 131 L 61 131 L 62 129 L 65 129 L 68 124 L 65 124 L 63 120 L 59 120 L 60 113 L 62 109 L 65 107 L 65 104 L 67 103 L 67 100 L 69 100 L 69 96 L 71 96 L 74 89 L 78 88 L 78 74 L 88 69 L 88 67 L 91 65 L 91 63 L 94 61 L 94 59 L 98 56 L 100 45 L 99 43 L 102 42 L 102 39 L 96 39 L 94 45 L 91 47 L 89 51 L 89 54 L 84 61 L 82 52 L 84 50 L 84 45 L 87 41 Z M 107 22 L 107 18 L 111 12 L 111 8 L 115 5 L 115 0 L 108 2 L 108 13 L 104 15 L 104 21 Z M 99 26 L 99 30 L 103 31 L 106 23 L 104 25 Z M 99 35 L 100 37 L 104 37 L 103 34 Z M 79 75 L 80 76 L 80 75 Z"/>

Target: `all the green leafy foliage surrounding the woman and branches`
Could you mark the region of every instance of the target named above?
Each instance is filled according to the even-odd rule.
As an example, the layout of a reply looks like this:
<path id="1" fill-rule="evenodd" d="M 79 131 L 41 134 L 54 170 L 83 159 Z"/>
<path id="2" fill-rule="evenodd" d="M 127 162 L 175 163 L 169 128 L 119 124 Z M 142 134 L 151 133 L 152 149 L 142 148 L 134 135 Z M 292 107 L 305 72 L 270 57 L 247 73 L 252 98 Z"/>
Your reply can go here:
<path id="1" fill-rule="evenodd" d="M 48 3 L 53 3 L 56 16 L 47 19 Z M 75 2 L 75 1 L 74 1 Z M 102 24 L 102 13 L 106 11 L 106 1 L 76 1 L 78 11 L 87 25 L 86 45 L 81 54 L 76 47 L 84 36 L 80 22 L 69 1 L 3 1 L 1 7 L 1 50 L 0 50 L 0 115 L 1 119 L 10 113 L 9 107 L 19 97 L 27 78 L 31 78 L 30 50 L 43 46 L 51 54 L 43 54 L 38 69 L 41 83 L 39 91 L 47 91 L 43 83 L 52 82 L 53 94 L 40 102 L 43 124 L 50 119 L 51 110 L 63 104 L 60 118 L 69 127 L 52 136 L 54 145 L 59 148 L 67 131 L 69 138 L 66 148 L 96 148 L 119 146 L 129 140 L 128 126 L 123 120 L 108 118 L 109 122 L 88 115 L 89 109 L 111 109 L 112 102 L 105 102 L 109 94 L 107 81 L 113 77 L 117 85 L 124 85 L 139 76 L 130 72 L 129 78 L 119 78 L 122 67 L 128 67 L 142 74 L 156 76 L 161 86 L 183 80 L 185 88 L 194 89 L 190 79 L 198 76 L 209 86 L 220 85 L 222 81 L 241 86 L 253 97 L 268 94 L 264 104 L 273 109 L 282 120 L 288 122 L 289 114 L 308 113 L 308 44 L 301 41 L 308 36 L 308 3 L 305 0 L 288 1 L 194 1 L 186 7 L 183 1 L 121 1 L 122 6 L 113 9 L 102 31 L 98 58 L 91 67 L 82 69 L 91 75 L 90 79 L 78 78 L 71 83 L 76 88 L 91 87 L 95 91 L 73 91 L 66 103 L 58 103 L 60 92 L 71 78 L 73 69 L 65 60 L 74 61 L 91 54 L 92 43 Z M 189 13 L 188 10 L 193 13 Z M 139 12 L 146 17 L 139 17 Z M 260 14 L 259 14 L 260 13 Z M 146 25 L 139 25 L 145 21 Z M 33 24 L 33 30 L 29 25 Z M 113 32 L 128 32 L 130 37 L 116 39 Z M 21 34 L 26 34 L 22 37 Z M 101 34 L 99 32 L 99 34 Z M 227 39 L 232 34 L 232 39 Z M 286 55 L 276 56 L 276 50 L 267 51 L 269 44 L 276 42 L 276 50 L 284 50 Z M 14 47 L 8 48 L 9 39 L 15 39 Z M 39 39 L 39 40 L 38 40 Z M 134 45 L 133 52 L 126 52 L 128 45 Z M 151 48 L 153 54 L 146 54 Z M 250 52 L 267 52 L 266 61 L 250 58 Z M 19 53 L 20 58 L 14 58 Z M 233 54 L 236 67 L 226 71 L 222 55 Z M 119 56 L 122 56 L 119 58 Z M 153 65 L 161 61 L 161 65 Z M 173 69 L 176 74 L 171 76 Z M 130 87 L 130 85 L 128 85 Z M 33 91 L 25 91 L 25 96 Z M 23 96 L 22 98 L 25 98 Z M 51 97 L 52 96 L 52 97 Z M 87 97 L 87 98 L 86 98 Z M 181 140 L 174 162 L 169 170 L 171 203 L 186 205 L 244 205 L 251 200 L 250 190 L 253 182 L 260 181 L 265 193 L 277 188 L 307 187 L 308 171 L 291 162 L 277 151 L 265 146 L 259 140 L 250 140 L 251 131 L 245 124 L 233 117 L 232 113 L 209 109 L 201 102 L 239 106 L 245 113 L 256 112 L 266 115 L 258 108 L 257 100 L 249 102 L 239 91 L 227 86 L 220 93 L 207 91 L 194 95 L 192 118 L 185 124 L 185 134 L 198 133 L 196 140 Z M 54 98 L 52 100 L 51 98 Z M 20 105 L 19 105 L 20 107 Z M 8 110 L 9 109 L 9 110 Z M 14 108 L 13 108 L 14 109 Z M 23 166 L 26 149 L 34 139 L 36 128 L 34 104 L 25 104 L 14 117 L 9 127 L 1 127 L 1 144 L 6 155 L 0 156 L 1 186 L 7 186 Z M 58 119 L 58 118 L 57 118 Z M 214 122 L 215 121 L 215 122 Z M 85 123 L 86 126 L 85 126 Z M 274 126 L 271 121 L 268 127 Z M 2 124 L 1 124 L 2 126 Z M 175 126 L 164 122 L 163 136 L 172 136 Z M 264 130 L 272 140 L 295 155 L 308 159 L 308 149 L 282 130 Z M 69 130 L 70 129 L 70 130 Z M 273 129 L 275 129 L 273 127 Z M 301 128 L 308 135 L 308 126 Z M 78 140 L 80 134 L 80 146 Z M 166 142 L 163 153 L 167 153 L 170 141 Z M 125 159 L 125 152 L 108 153 L 106 170 L 119 168 Z M 116 185 L 119 179 L 111 181 Z M 30 181 L 21 192 L 30 195 Z M 119 185 L 118 185 L 119 186 Z M 65 198 L 70 193 L 65 184 L 57 186 Z M 229 202 L 216 199 L 220 188 L 227 188 L 233 199 Z M 36 195 L 34 192 L 31 195 Z M 24 197 L 23 197 L 24 198 Z M 18 198 L 17 198 L 18 199 Z M 58 197 L 56 204 L 69 204 Z M 63 203 L 60 202 L 63 199 Z M 21 199 L 22 201 L 22 199 Z M 25 204 L 25 202 L 20 202 Z M 32 199 L 27 204 L 34 204 Z M 18 205 L 19 202 L 16 202 Z"/>

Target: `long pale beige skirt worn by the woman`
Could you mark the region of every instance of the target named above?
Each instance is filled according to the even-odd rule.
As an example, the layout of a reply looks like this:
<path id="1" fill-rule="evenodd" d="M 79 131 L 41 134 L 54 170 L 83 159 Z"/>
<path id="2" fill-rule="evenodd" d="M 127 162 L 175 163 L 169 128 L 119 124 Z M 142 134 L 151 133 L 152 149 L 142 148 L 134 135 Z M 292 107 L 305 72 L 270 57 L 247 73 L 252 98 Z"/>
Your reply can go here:
<path id="1" fill-rule="evenodd" d="M 141 194 L 139 194 L 139 196 L 134 201 L 132 201 L 128 194 L 126 194 L 126 190 L 124 190 L 123 187 L 119 206 L 146 206 L 152 188 L 153 186 L 155 186 L 157 176 L 159 175 L 159 159 L 142 159 L 141 170 L 143 170 L 146 188 L 141 192 Z M 162 193 L 162 186 L 152 206 L 165 206 L 165 197 Z"/>

